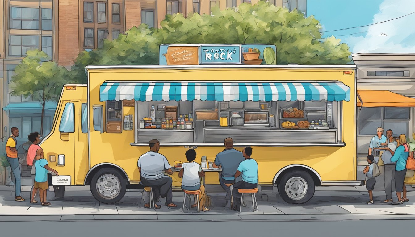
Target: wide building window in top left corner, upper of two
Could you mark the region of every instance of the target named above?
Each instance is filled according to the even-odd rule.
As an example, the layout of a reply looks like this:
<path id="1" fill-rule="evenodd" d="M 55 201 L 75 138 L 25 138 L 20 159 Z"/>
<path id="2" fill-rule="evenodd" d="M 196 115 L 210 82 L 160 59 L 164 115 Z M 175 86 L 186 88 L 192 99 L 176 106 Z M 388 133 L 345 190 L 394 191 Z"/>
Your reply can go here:
<path id="1" fill-rule="evenodd" d="M 10 29 L 39 29 L 39 9 L 10 7 Z"/>

